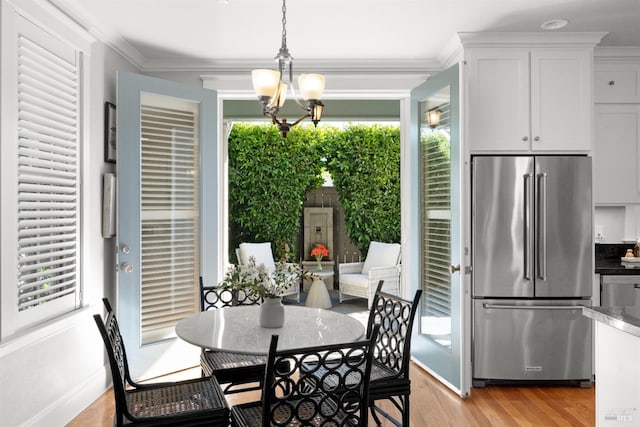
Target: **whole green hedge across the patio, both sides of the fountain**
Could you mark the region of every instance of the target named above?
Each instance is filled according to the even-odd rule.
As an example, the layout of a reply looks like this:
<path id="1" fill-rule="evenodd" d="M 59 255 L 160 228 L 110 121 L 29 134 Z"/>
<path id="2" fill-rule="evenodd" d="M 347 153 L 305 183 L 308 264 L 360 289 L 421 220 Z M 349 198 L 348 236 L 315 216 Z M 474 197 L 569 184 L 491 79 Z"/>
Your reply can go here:
<path id="1" fill-rule="evenodd" d="M 275 126 L 240 123 L 229 135 L 230 249 L 270 241 L 277 259 L 295 253 L 304 200 L 325 170 L 363 254 L 371 240 L 400 241 L 397 126 L 296 126 L 283 140 Z"/>

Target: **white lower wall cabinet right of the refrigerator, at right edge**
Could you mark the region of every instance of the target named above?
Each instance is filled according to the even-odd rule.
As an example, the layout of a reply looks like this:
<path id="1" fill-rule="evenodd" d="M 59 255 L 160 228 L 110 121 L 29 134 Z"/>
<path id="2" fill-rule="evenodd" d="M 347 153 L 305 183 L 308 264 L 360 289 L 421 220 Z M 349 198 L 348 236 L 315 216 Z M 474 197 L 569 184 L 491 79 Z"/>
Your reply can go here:
<path id="1" fill-rule="evenodd" d="M 593 202 L 640 203 L 640 104 L 596 104 Z"/>

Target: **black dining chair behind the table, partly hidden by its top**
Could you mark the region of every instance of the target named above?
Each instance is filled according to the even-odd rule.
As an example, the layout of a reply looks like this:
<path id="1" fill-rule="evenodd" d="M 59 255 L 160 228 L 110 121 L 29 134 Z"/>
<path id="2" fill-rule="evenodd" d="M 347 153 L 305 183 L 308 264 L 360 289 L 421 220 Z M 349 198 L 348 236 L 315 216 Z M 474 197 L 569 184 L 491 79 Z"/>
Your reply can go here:
<path id="1" fill-rule="evenodd" d="M 222 286 L 205 286 L 200 277 L 200 310 L 237 305 L 259 305 L 262 298 Z M 203 376 L 215 376 L 225 394 L 262 390 L 267 358 L 262 355 L 203 349 L 200 367 Z"/>

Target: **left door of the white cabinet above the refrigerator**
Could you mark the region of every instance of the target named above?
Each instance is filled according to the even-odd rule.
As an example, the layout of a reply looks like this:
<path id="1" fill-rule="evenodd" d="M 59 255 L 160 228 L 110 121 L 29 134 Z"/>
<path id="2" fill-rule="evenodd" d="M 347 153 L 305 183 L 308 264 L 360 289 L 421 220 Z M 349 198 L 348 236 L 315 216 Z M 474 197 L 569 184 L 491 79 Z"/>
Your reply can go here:
<path id="1" fill-rule="evenodd" d="M 528 151 L 528 50 L 473 49 L 467 64 L 470 150 Z"/>

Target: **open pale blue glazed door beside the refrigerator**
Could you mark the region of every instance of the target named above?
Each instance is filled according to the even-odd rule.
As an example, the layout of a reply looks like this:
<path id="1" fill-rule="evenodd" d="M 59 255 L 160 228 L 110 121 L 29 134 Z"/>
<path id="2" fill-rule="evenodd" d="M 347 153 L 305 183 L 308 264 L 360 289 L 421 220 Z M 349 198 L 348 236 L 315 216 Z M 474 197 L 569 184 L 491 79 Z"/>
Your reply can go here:
<path id="1" fill-rule="evenodd" d="M 411 157 L 419 179 L 414 218 L 419 230 L 422 298 L 413 330 L 412 356 L 460 396 L 469 394 L 465 293 L 461 273 L 460 67 L 431 77 L 411 92 Z"/>

